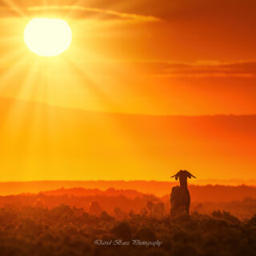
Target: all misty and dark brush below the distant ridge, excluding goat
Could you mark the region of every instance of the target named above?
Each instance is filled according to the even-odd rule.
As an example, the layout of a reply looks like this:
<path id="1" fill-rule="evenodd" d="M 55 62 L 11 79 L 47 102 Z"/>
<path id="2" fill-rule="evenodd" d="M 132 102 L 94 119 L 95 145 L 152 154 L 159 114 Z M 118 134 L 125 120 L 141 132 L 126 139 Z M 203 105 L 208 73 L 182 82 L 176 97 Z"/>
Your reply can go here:
<path id="1" fill-rule="evenodd" d="M 135 190 L 62 188 L 0 197 L 0 254 L 254 255 L 255 199 L 193 202 L 191 198 L 190 214 L 182 210 L 170 217 L 170 195 L 159 198 Z M 95 244 L 96 240 L 103 244 Z M 110 244 L 115 240 L 118 246 Z M 161 245 L 138 246 L 133 240 Z"/>

